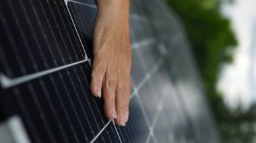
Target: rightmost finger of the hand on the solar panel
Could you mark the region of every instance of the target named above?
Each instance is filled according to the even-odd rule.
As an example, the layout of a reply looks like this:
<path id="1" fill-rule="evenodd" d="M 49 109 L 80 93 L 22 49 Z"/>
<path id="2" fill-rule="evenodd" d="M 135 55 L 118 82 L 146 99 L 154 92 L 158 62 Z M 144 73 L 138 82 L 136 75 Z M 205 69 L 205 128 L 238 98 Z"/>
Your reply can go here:
<path id="1" fill-rule="evenodd" d="M 116 91 L 117 120 L 115 120 L 119 126 L 125 126 L 128 121 L 130 93 L 131 83 L 129 74 L 119 74 Z"/>

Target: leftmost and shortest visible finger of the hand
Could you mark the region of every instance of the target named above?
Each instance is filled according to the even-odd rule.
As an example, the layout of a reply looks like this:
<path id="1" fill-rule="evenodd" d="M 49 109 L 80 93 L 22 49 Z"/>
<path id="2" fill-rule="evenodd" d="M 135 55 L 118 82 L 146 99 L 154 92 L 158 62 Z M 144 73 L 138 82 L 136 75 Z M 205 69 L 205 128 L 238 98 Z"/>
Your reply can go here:
<path id="1" fill-rule="evenodd" d="M 104 55 L 98 54 L 94 57 L 94 61 L 92 64 L 92 80 L 90 84 L 90 89 L 92 91 L 92 95 L 96 97 L 101 97 L 101 89 L 102 89 L 102 81 L 104 75 L 106 73 L 106 58 Z"/>

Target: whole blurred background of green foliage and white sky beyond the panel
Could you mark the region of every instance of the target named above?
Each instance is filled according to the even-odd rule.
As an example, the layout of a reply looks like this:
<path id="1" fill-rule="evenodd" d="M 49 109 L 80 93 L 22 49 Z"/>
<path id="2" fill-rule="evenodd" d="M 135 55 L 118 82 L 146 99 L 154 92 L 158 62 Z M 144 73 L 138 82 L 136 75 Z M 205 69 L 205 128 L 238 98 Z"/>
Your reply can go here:
<path id="1" fill-rule="evenodd" d="M 256 1 L 166 1 L 187 30 L 222 142 L 256 142 Z"/>

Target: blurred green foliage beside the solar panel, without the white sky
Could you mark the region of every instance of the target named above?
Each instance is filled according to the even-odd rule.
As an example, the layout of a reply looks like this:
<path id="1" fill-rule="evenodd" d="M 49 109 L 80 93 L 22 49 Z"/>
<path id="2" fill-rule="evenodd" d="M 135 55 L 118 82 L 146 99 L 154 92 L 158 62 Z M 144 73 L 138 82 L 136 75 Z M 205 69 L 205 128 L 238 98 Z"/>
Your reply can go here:
<path id="1" fill-rule="evenodd" d="M 256 105 L 248 111 L 229 109 L 216 89 L 222 64 L 232 62 L 236 38 L 230 21 L 220 14 L 220 0 L 167 0 L 187 30 L 207 100 L 222 142 L 253 142 Z M 232 1 L 230 1 L 232 2 Z M 227 85 L 228 86 L 228 85 Z"/>

